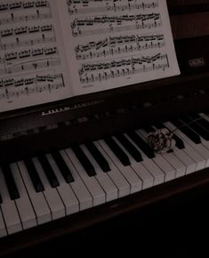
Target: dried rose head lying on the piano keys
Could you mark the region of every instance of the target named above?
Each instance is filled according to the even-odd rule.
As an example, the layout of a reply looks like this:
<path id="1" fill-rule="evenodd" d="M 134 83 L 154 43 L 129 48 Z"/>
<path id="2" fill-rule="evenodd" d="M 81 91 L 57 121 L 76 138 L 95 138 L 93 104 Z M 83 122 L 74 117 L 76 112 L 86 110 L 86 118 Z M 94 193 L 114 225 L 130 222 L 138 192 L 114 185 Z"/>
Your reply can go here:
<path id="1" fill-rule="evenodd" d="M 147 141 L 149 146 L 158 153 L 165 153 L 173 150 L 175 140 L 167 128 L 157 129 L 155 132 L 148 134 Z"/>

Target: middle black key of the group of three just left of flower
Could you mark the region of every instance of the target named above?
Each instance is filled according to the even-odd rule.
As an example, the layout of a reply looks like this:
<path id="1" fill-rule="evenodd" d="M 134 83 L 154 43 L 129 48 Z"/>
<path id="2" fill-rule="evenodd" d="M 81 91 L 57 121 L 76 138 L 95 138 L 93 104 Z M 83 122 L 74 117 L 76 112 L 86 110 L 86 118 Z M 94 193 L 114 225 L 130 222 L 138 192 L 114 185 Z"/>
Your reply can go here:
<path id="1" fill-rule="evenodd" d="M 140 151 L 135 148 L 131 141 L 128 141 L 123 133 L 117 133 L 116 138 L 125 147 L 125 149 L 134 158 L 135 161 L 141 162 L 143 160 Z"/>

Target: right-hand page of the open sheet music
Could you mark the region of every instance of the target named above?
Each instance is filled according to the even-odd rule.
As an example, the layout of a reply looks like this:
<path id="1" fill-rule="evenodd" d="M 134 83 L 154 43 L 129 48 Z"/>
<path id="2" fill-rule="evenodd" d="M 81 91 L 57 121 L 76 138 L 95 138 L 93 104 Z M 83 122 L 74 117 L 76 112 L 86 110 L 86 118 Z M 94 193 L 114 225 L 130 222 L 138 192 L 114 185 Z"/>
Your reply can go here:
<path id="1" fill-rule="evenodd" d="M 165 0 L 58 0 L 75 94 L 180 74 Z"/>

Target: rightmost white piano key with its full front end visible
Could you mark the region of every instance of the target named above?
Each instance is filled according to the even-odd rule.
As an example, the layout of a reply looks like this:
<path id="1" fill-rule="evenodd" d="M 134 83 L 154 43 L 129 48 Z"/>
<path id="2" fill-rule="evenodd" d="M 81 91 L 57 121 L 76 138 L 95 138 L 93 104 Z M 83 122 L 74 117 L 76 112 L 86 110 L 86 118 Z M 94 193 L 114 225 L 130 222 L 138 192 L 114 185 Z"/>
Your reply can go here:
<path id="1" fill-rule="evenodd" d="M 176 127 L 171 122 L 165 122 L 165 126 L 167 126 L 170 130 L 174 130 Z M 180 130 L 176 130 L 175 134 L 178 135 L 181 140 L 184 142 L 185 149 L 184 151 L 196 162 L 196 171 L 205 168 L 205 158 L 202 157 L 195 148 L 193 148 L 188 141 L 185 140 L 184 134 L 180 132 Z"/>

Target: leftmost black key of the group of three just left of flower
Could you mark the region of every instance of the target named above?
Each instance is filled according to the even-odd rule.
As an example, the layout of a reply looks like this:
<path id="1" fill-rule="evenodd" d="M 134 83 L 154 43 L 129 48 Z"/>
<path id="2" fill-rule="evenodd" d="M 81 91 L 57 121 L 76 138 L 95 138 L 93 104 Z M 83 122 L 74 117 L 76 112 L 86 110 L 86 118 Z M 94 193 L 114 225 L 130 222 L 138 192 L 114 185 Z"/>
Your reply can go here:
<path id="1" fill-rule="evenodd" d="M 125 151 L 119 147 L 116 141 L 114 141 L 111 137 L 105 137 L 104 141 L 108 144 L 109 149 L 115 153 L 123 165 L 131 165 L 128 156 L 125 154 Z"/>

